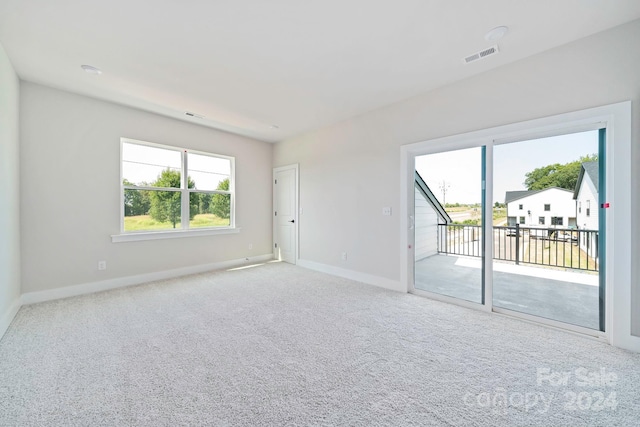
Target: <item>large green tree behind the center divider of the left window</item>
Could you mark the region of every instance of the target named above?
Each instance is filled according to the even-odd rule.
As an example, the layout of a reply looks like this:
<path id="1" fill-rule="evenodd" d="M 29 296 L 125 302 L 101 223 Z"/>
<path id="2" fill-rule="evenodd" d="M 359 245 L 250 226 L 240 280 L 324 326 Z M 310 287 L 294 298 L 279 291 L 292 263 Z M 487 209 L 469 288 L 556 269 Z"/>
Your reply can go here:
<path id="1" fill-rule="evenodd" d="M 187 178 L 188 188 L 195 188 L 196 183 Z M 153 187 L 180 188 L 180 172 L 169 168 L 163 170 L 158 179 L 151 184 Z M 197 196 L 197 194 L 195 194 Z M 170 221 L 173 228 L 180 222 L 181 193 L 179 191 L 150 191 L 149 214 L 151 218 L 159 222 Z M 189 219 L 192 219 L 198 210 L 198 197 L 191 197 L 189 200 Z"/>

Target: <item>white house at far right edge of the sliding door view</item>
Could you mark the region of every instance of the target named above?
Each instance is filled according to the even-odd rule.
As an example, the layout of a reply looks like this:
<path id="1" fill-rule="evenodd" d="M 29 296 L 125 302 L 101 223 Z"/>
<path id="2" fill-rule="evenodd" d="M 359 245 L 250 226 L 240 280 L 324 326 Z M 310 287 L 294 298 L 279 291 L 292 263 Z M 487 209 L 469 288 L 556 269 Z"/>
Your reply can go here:
<path id="1" fill-rule="evenodd" d="M 598 162 L 586 162 L 580 168 L 578 182 L 573 193 L 577 207 L 577 225 L 580 230 L 598 231 Z M 592 258 L 598 258 L 598 234 L 580 233 L 580 249 Z"/>

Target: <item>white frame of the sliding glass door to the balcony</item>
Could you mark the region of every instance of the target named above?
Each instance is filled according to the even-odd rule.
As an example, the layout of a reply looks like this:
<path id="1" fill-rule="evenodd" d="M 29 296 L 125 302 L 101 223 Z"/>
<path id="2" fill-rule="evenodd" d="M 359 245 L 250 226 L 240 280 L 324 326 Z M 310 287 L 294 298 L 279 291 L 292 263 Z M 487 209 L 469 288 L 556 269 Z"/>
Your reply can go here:
<path id="1" fill-rule="evenodd" d="M 606 265 L 604 272 L 606 281 L 605 332 L 597 335 L 605 338 L 613 345 L 640 350 L 640 337 L 631 335 L 631 236 L 628 227 L 631 224 L 631 206 L 629 194 L 631 182 L 631 102 L 621 102 L 571 113 L 559 114 L 542 119 L 535 119 L 483 129 L 466 134 L 453 135 L 433 140 L 403 145 L 401 154 L 400 176 L 400 275 L 401 283 L 407 292 L 413 292 L 413 176 L 415 157 L 423 154 L 450 151 L 462 148 L 486 146 L 486 166 L 493 170 L 493 146 L 508 142 L 543 138 L 567 133 L 606 128 L 606 194 L 610 208 L 607 212 L 605 227 L 608 239 L 606 245 Z M 613 185 L 615 182 L 615 186 Z M 488 174 L 485 180 L 486 200 L 493 200 L 493 176 Z M 485 217 L 491 218 L 491 204 L 485 204 Z M 627 227 L 614 227 L 614 224 L 627 224 Z M 485 233 L 489 239 L 490 233 Z M 507 313 L 492 306 L 491 277 L 493 276 L 493 245 L 485 242 L 485 280 L 486 301 L 484 305 L 461 303 L 455 298 L 436 298 L 458 305 L 464 305 L 483 311 L 498 312 L 517 316 L 524 320 L 535 320 L 549 326 L 561 327 L 575 332 L 586 333 L 586 328 L 571 327 L 560 322 L 545 322 L 542 319 L 529 319 Z M 615 253 L 615 256 L 614 256 Z M 615 276 L 615 280 L 614 280 Z M 417 292 L 416 292 L 417 293 Z"/>

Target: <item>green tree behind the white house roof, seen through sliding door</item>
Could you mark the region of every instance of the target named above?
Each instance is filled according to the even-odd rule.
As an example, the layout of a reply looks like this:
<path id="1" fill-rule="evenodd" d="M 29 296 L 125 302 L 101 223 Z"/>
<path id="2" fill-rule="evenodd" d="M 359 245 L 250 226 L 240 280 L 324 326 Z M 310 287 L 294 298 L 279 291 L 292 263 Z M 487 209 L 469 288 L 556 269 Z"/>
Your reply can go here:
<path id="1" fill-rule="evenodd" d="M 549 187 L 560 187 L 567 190 L 574 190 L 580 174 L 580 166 L 584 162 L 598 160 L 597 154 L 580 157 L 579 160 L 565 163 L 554 163 L 552 165 L 536 168 L 527 172 L 524 186 L 527 190 L 544 190 Z"/>

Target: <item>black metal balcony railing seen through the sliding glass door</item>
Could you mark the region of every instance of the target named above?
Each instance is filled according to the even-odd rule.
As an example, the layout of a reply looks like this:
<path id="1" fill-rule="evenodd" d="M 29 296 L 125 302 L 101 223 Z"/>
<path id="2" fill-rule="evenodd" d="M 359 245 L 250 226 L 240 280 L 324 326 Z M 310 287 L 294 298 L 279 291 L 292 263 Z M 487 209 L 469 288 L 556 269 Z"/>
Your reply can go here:
<path id="1" fill-rule="evenodd" d="M 598 271 L 598 231 L 573 228 L 493 227 L 493 259 Z M 482 227 L 438 224 L 438 252 L 482 256 Z"/>

